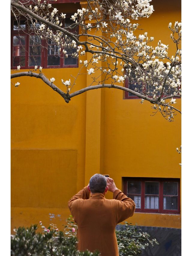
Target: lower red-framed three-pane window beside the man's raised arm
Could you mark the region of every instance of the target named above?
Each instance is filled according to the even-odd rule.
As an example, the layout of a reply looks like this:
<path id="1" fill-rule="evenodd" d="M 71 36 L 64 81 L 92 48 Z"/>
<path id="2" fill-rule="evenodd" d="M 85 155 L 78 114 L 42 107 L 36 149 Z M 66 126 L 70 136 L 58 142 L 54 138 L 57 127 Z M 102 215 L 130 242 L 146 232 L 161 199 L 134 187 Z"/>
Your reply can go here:
<path id="1" fill-rule="evenodd" d="M 180 180 L 123 178 L 124 194 L 134 200 L 135 212 L 180 213 Z"/>

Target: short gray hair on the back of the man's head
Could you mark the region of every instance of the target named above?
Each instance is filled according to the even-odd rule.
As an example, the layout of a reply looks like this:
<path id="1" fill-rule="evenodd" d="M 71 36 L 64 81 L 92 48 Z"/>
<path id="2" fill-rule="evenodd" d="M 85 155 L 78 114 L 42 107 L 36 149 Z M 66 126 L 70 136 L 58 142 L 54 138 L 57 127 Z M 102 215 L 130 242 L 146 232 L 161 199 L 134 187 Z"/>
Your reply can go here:
<path id="1" fill-rule="evenodd" d="M 89 181 L 91 193 L 103 193 L 107 187 L 107 179 L 105 176 L 96 173 Z"/>

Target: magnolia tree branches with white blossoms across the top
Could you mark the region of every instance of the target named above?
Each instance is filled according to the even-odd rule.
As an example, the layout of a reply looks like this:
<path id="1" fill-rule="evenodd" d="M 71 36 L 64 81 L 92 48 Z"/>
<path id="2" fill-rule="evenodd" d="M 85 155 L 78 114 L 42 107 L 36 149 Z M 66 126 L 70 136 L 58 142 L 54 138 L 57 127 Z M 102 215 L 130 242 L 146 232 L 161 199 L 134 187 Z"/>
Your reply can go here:
<path id="1" fill-rule="evenodd" d="M 65 27 L 66 14 L 59 13 L 50 2 L 53 1 L 11 0 L 11 11 L 20 31 L 20 20 L 24 17 L 28 21 L 28 33 L 57 45 L 56 54 L 61 58 L 67 58 L 69 53 L 78 58 L 80 68 L 76 77 L 66 73 L 59 82 L 54 77 L 47 78 L 41 66 L 20 72 L 19 65 L 19 72 L 11 74 L 11 78 L 39 78 L 67 103 L 88 90 L 116 88 L 138 96 L 141 103 L 149 101 L 153 113 L 160 112 L 168 121 L 173 121 L 176 112 L 181 113 L 175 107 L 176 99 L 181 97 L 181 23 L 168 25 L 176 49 L 175 55 L 169 56 L 168 45 L 161 40 L 154 48 L 151 46 L 154 38 L 148 38 L 147 32 L 136 35 L 139 34 L 137 21 L 148 18 L 154 11 L 151 0 L 87 0 L 86 8 L 71 15 L 72 23 Z M 87 53 L 88 59 L 82 61 L 81 56 Z M 85 70 L 91 82 L 75 91 L 76 79 Z M 126 79 L 134 85 L 133 90 L 124 86 Z M 62 83 L 64 91 L 55 82 Z"/>

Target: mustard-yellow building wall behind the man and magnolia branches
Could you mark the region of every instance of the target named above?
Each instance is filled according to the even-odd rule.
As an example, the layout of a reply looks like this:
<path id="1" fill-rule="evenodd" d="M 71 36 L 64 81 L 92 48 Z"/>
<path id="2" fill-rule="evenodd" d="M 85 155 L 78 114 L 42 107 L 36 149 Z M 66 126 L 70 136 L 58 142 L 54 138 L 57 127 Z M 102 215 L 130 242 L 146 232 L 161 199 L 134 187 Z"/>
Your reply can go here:
<path id="1" fill-rule="evenodd" d="M 162 5 L 153 1 L 154 14 L 142 21 L 142 33 L 154 36 L 154 46 L 159 39 L 170 48 L 173 45 L 167 26 L 180 21 L 181 14 L 177 2 L 174 10 L 170 2 L 165 10 L 164 1 Z M 68 80 L 78 69 L 43 72 L 55 77 L 55 84 L 64 90 L 61 78 Z M 70 214 L 67 201 L 95 173 L 110 174 L 118 188 L 124 176 L 181 178 L 176 152 L 181 145 L 180 114 L 171 123 L 159 113 L 151 116 L 149 102 L 125 100 L 116 89 L 88 91 L 66 104 L 38 79 L 12 80 L 17 81 L 19 87 L 11 86 L 11 230 L 39 221 L 62 230 Z M 75 90 L 88 84 L 89 77 L 83 75 Z M 177 107 L 181 108 L 179 99 Z M 110 194 L 107 198 L 112 198 Z M 181 215 L 135 213 L 128 222 L 180 228 Z"/>

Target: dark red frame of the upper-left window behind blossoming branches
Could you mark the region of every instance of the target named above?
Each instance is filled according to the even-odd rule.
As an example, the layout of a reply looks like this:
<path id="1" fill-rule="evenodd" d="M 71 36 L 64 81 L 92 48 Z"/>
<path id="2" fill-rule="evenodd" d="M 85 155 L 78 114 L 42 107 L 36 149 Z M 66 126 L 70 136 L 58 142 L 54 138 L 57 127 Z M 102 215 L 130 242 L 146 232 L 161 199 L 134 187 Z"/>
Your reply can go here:
<path id="1" fill-rule="evenodd" d="M 70 14 L 66 15 L 66 18 L 69 18 Z M 22 19 L 21 19 L 22 20 Z M 23 19 L 25 20 L 25 19 Z M 15 19 L 11 19 L 11 69 L 17 69 L 17 66 L 13 66 L 13 36 L 25 36 L 26 37 L 26 45 L 25 45 L 25 66 L 21 66 L 20 69 L 28 69 L 28 68 L 34 68 L 34 66 L 29 66 L 29 37 L 30 35 L 34 35 L 30 32 L 29 35 L 29 29 L 26 25 L 26 29 L 24 31 L 22 30 L 13 30 L 13 23 Z M 60 65 L 47 65 L 47 53 L 48 50 L 45 48 L 47 46 L 46 40 L 41 41 L 41 66 L 42 68 L 78 68 L 79 67 L 79 61 L 78 58 L 75 65 L 64 65 L 64 58 L 60 58 Z M 61 49 L 61 56 L 63 56 Z"/>

